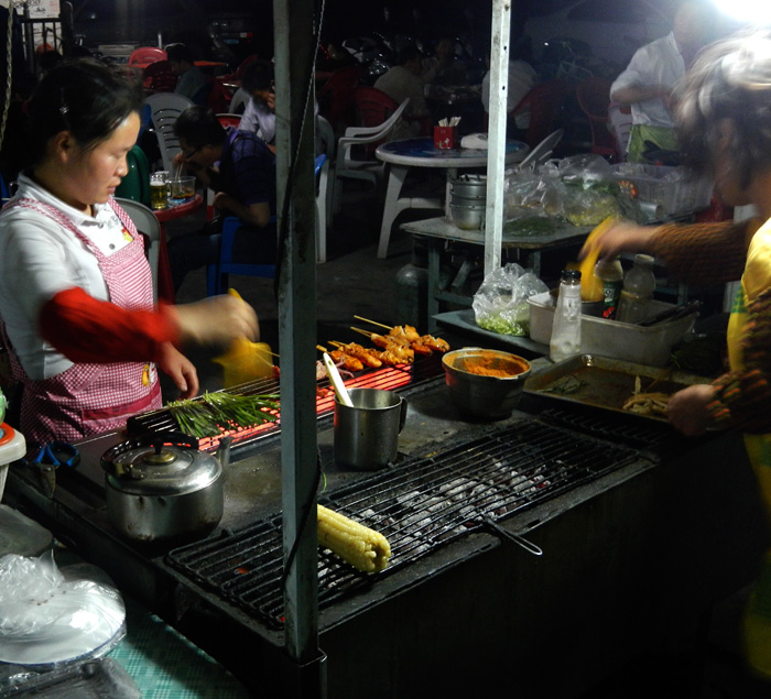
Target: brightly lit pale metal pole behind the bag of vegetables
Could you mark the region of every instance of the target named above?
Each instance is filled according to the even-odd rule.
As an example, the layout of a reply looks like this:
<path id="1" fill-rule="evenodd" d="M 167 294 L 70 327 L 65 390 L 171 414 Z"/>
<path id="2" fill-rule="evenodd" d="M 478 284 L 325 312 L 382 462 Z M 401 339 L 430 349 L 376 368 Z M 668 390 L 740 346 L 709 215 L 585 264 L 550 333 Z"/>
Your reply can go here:
<path id="1" fill-rule="evenodd" d="M 511 0 L 492 0 L 490 121 L 488 127 L 487 208 L 485 215 L 485 276 L 497 270 L 501 264 L 510 24 Z"/>

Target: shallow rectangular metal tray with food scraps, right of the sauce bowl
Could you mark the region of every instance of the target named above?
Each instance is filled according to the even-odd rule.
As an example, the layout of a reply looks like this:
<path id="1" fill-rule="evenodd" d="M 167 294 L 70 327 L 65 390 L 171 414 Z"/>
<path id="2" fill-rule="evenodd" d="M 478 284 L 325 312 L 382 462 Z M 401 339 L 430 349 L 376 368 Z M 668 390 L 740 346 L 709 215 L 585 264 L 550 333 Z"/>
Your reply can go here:
<path id="1" fill-rule="evenodd" d="M 637 376 L 640 376 L 640 387 L 643 393 L 648 392 L 648 386 L 654 381 L 656 383 L 653 391 L 669 394 L 696 383 L 709 383 L 709 379 L 674 369 L 582 354 L 531 374 L 524 382 L 524 391 L 531 395 L 555 401 L 590 405 L 633 417 L 666 422 L 664 416 L 640 415 L 622 409 L 625 402 L 634 391 Z"/>

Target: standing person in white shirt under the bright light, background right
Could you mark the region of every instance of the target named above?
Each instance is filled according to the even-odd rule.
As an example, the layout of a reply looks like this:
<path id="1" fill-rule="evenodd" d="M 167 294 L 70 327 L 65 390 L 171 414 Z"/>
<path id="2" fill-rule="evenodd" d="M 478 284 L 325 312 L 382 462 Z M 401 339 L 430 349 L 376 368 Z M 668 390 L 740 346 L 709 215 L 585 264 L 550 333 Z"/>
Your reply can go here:
<path id="1" fill-rule="evenodd" d="M 672 31 L 639 48 L 610 86 L 611 101 L 631 105 L 629 162 L 650 162 L 644 155 L 649 150 L 645 142 L 655 150 L 678 150 L 670 111 L 672 90 L 709 40 L 712 30 L 707 4 L 686 0 L 675 14 Z"/>

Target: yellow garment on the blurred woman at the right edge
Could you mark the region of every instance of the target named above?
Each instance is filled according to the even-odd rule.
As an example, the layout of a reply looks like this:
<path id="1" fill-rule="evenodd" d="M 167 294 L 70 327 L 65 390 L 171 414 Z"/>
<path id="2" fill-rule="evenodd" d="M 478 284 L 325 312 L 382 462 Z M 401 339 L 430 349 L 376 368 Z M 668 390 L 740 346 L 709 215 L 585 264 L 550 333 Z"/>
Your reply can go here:
<path id="1" fill-rule="evenodd" d="M 771 221 L 752 237 L 728 321 L 728 359 L 731 371 L 745 369 L 741 340 L 747 323 L 747 306 L 771 287 Z M 771 516 L 771 434 L 745 435 L 745 447 Z M 771 550 L 767 553 L 743 620 L 747 660 L 761 676 L 771 679 Z"/>

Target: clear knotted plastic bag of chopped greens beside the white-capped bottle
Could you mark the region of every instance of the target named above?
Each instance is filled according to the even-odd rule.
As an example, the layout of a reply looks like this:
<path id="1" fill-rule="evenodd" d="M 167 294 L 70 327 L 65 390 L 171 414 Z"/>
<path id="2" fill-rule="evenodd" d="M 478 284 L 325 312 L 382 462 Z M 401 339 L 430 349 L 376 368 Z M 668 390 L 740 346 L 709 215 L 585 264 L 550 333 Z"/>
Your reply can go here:
<path id="1" fill-rule="evenodd" d="M 477 325 L 491 332 L 530 335 L 528 298 L 549 291 L 535 274 L 510 262 L 485 277 L 471 307 Z"/>

